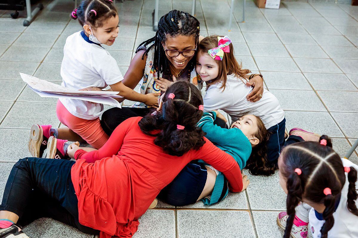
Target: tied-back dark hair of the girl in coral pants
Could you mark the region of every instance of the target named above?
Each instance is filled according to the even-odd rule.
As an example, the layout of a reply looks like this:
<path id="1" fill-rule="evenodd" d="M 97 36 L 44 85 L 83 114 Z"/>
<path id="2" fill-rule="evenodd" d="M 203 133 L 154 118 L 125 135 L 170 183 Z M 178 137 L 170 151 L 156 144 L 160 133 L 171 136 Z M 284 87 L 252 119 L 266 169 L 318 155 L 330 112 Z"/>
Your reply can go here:
<path id="1" fill-rule="evenodd" d="M 74 20 L 78 19 L 81 26 L 89 23 L 93 27 L 101 27 L 104 20 L 118 15 L 116 7 L 111 3 L 110 0 L 84 0 L 70 16 Z"/>

